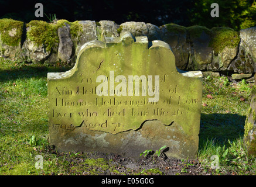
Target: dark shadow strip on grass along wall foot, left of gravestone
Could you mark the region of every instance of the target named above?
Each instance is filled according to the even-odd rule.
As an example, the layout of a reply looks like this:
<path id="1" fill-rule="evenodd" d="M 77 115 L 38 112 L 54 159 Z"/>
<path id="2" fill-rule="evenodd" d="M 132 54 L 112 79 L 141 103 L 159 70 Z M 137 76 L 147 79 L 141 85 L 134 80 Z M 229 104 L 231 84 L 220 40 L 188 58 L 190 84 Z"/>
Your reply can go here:
<path id="1" fill-rule="evenodd" d="M 48 72 L 64 72 L 70 70 L 72 67 L 45 67 L 28 65 L 25 67 L 13 67 L 9 70 L 1 70 L 0 68 L 0 81 L 10 81 L 19 78 L 46 78 Z"/>

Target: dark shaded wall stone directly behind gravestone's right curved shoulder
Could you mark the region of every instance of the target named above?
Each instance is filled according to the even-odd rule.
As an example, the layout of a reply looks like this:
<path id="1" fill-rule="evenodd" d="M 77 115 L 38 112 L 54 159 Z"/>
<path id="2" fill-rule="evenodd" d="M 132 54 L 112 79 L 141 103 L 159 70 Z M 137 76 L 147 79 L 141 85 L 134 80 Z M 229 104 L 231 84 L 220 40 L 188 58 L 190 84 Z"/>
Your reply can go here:
<path id="1" fill-rule="evenodd" d="M 186 70 L 190 55 L 190 46 L 186 39 L 186 27 L 166 24 L 161 26 L 160 30 L 162 40 L 172 48 L 176 67 L 180 70 Z"/>

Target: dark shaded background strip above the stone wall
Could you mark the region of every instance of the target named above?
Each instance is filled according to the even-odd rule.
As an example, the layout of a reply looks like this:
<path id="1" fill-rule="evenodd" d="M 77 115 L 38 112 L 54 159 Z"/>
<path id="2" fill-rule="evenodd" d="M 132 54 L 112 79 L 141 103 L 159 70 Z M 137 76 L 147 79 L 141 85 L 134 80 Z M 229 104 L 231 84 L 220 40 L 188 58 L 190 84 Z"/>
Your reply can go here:
<path id="1" fill-rule="evenodd" d="M 182 26 L 201 25 L 209 29 L 214 26 L 228 26 L 235 30 L 256 26 L 255 0 L 0 0 L 0 18 L 12 18 L 30 22 L 36 18 L 35 4 L 43 4 L 44 13 L 56 14 L 57 19 L 112 20 L 118 25 L 128 21 L 152 23 L 156 26 L 176 23 Z M 220 17 L 211 18 L 210 5 L 219 4 Z"/>

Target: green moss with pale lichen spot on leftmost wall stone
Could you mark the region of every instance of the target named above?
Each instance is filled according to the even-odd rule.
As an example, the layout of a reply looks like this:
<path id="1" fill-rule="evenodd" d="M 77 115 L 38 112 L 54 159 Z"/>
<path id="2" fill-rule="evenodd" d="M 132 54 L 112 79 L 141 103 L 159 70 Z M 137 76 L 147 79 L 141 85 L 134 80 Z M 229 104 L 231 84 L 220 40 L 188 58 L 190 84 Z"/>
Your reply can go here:
<path id="1" fill-rule="evenodd" d="M 0 19 L 2 43 L 8 46 L 18 46 L 22 38 L 24 23 L 13 19 Z"/>

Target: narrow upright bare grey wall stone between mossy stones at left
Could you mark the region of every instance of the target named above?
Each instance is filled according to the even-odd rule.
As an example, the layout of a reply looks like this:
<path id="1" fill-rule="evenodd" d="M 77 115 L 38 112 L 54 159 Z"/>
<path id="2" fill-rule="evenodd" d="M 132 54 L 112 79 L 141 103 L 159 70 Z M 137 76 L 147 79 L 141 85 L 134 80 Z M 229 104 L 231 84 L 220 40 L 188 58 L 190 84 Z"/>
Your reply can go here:
<path id="1" fill-rule="evenodd" d="M 66 63 L 71 58 L 73 41 L 70 36 L 70 25 L 67 23 L 64 23 L 64 25 L 58 29 L 59 47 L 57 56 Z"/>

